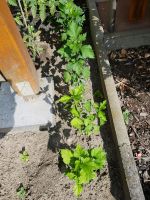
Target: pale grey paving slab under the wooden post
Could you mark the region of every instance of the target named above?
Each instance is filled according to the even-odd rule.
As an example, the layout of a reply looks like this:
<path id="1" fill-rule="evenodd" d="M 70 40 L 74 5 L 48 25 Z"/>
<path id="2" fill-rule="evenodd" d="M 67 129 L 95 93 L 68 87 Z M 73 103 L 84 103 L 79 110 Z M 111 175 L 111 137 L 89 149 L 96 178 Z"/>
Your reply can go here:
<path id="1" fill-rule="evenodd" d="M 0 84 L 0 133 L 39 130 L 54 126 L 54 83 L 51 77 L 40 79 L 40 94 L 28 98 L 17 95 L 8 82 Z"/>

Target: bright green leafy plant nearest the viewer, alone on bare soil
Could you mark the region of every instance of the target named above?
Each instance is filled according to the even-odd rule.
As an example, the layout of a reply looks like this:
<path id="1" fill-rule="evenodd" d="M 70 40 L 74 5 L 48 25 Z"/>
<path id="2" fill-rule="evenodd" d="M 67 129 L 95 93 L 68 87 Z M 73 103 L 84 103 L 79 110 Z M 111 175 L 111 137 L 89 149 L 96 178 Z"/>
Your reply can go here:
<path id="1" fill-rule="evenodd" d="M 74 180 L 74 194 L 80 196 L 83 185 L 97 177 L 97 170 L 104 167 L 106 154 L 101 147 L 84 149 L 77 145 L 74 150 L 62 149 L 61 157 L 66 164 L 65 175 Z"/>

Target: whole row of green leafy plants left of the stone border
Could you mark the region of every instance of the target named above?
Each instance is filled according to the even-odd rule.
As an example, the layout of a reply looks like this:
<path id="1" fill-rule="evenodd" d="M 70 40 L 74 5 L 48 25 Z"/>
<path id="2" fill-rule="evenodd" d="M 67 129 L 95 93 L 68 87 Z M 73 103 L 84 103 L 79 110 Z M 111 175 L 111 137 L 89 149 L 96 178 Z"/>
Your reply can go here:
<path id="1" fill-rule="evenodd" d="M 17 6 L 19 0 L 9 0 L 9 3 Z M 64 81 L 69 85 L 69 94 L 61 96 L 59 103 L 64 104 L 65 109 L 71 113 L 70 125 L 78 133 L 87 137 L 98 134 L 101 126 L 107 121 L 106 101 L 97 103 L 85 99 L 85 85 L 90 78 L 88 59 L 93 59 L 95 56 L 92 47 L 86 44 L 87 34 L 83 33 L 85 21 L 83 10 L 73 0 L 23 0 L 22 5 L 24 5 L 22 13 L 25 13 L 24 16 L 29 14 L 33 18 L 40 16 L 44 23 L 49 9 L 48 13 L 50 12 L 59 24 L 62 47 L 58 53 L 66 61 Z M 16 18 L 16 21 L 21 22 L 20 18 Z M 32 45 L 33 34 L 30 34 L 29 30 L 28 34 L 31 36 Z M 62 149 L 61 157 L 67 168 L 65 174 L 75 181 L 76 196 L 81 194 L 84 184 L 96 177 L 97 170 L 104 167 L 106 161 L 106 155 L 101 147 L 86 150 L 80 145 L 74 150 Z"/>

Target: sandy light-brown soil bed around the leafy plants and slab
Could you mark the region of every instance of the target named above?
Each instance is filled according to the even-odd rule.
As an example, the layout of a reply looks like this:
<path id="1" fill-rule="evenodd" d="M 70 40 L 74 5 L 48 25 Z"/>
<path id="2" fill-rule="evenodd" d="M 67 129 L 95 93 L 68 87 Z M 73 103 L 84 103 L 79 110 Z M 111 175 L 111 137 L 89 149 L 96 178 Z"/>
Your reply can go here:
<path id="1" fill-rule="evenodd" d="M 15 9 L 13 11 L 15 12 Z M 65 166 L 60 158 L 60 150 L 73 149 L 77 144 L 85 148 L 102 146 L 107 157 L 105 167 L 97 171 L 96 179 L 85 185 L 78 199 L 122 200 L 124 198 L 122 180 L 109 120 L 100 133 L 89 137 L 77 134 L 70 126 L 70 113 L 64 109 L 63 104 L 58 103 L 62 95 L 69 94 L 69 87 L 64 83 L 63 77 L 66 62 L 57 52 L 62 45 L 59 30 L 51 18 L 48 18 L 44 24 L 40 21 L 32 21 L 32 18 L 30 20 L 31 24 L 35 24 L 35 31 L 41 31 L 41 40 L 37 40 L 36 44 L 42 47 L 43 51 L 35 57 L 35 65 L 41 77 L 52 76 L 54 79 L 55 106 L 53 112 L 55 112 L 56 126 L 38 133 L 18 132 L 0 135 L 0 200 L 19 199 L 18 192 L 21 191 L 23 198 L 27 200 L 76 199 L 73 194 L 73 181 L 64 176 Z M 85 30 L 88 30 L 87 27 L 88 22 Z M 21 28 L 22 34 L 24 31 L 25 29 Z M 87 42 L 91 43 L 89 32 Z M 96 59 L 86 64 L 90 68 L 91 76 L 85 83 L 84 98 L 100 102 L 104 97 Z M 27 155 L 22 159 L 20 156 L 24 150 Z"/>

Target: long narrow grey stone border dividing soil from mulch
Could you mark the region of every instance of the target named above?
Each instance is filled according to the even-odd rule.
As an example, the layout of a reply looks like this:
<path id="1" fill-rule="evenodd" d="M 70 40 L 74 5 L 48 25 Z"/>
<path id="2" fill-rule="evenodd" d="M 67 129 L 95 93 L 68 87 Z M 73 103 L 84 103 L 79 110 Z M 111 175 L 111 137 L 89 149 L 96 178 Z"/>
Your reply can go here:
<path id="1" fill-rule="evenodd" d="M 116 92 L 114 79 L 104 44 L 104 31 L 100 23 L 96 1 L 87 0 L 90 15 L 90 28 L 99 66 L 104 95 L 108 102 L 112 134 L 118 154 L 125 200 L 144 200 L 144 194 L 138 171 L 133 158 L 130 141 L 124 123 L 120 101 Z"/>

